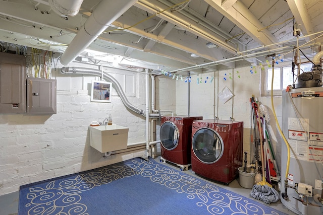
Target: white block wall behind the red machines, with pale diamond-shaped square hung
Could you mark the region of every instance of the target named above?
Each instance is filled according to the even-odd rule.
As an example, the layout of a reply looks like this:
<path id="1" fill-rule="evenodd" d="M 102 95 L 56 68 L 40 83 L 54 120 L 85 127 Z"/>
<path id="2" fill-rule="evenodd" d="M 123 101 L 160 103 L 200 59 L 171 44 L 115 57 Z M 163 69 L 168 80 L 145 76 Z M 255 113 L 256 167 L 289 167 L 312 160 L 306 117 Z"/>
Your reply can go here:
<path id="1" fill-rule="evenodd" d="M 265 67 L 265 69 L 267 69 Z M 188 83 L 184 81 L 176 82 L 176 113 L 179 115 L 203 116 L 203 119 L 213 119 L 219 117 L 222 120 L 230 120 L 230 117 L 236 121 L 244 123 L 243 152 L 248 153 L 248 162 L 250 162 L 250 150 L 254 147 L 250 144 L 251 131 L 251 108 L 249 99 L 254 95 L 260 104 L 267 107 L 271 116 L 268 130 L 273 136 L 272 143 L 280 166 L 281 162 L 281 136 L 276 127 L 275 118 L 272 111 L 271 98 L 260 96 L 260 68 L 257 73 L 250 73 L 250 65 L 237 67 L 234 69 L 219 69 L 202 75 L 192 75 L 190 83 L 190 112 L 188 113 Z M 238 73 L 237 73 L 238 71 Z M 231 76 L 230 76 L 231 74 Z M 238 77 L 240 76 L 240 78 Z M 207 77 L 207 78 L 206 78 Z M 211 77 L 214 77 L 210 83 Z M 231 77 L 231 79 L 230 79 Z M 202 79 L 201 79 L 202 78 Z M 226 80 L 224 79 L 226 78 Z M 185 80 L 185 79 L 184 79 Z M 197 84 L 197 80 L 202 83 Z M 204 83 L 206 81 L 206 83 Z M 233 93 L 233 97 L 223 103 L 218 94 L 225 87 L 228 87 Z M 281 124 L 282 97 L 275 96 L 275 111 Z"/>

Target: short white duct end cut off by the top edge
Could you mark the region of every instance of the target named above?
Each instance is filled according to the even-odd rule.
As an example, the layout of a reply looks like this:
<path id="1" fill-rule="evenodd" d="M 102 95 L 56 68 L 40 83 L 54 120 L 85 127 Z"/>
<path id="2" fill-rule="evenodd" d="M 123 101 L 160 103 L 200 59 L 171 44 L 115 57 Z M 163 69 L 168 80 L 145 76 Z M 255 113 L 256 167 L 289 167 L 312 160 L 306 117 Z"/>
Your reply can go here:
<path id="1" fill-rule="evenodd" d="M 83 0 L 48 0 L 50 8 L 62 17 L 74 17 L 80 11 Z"/>

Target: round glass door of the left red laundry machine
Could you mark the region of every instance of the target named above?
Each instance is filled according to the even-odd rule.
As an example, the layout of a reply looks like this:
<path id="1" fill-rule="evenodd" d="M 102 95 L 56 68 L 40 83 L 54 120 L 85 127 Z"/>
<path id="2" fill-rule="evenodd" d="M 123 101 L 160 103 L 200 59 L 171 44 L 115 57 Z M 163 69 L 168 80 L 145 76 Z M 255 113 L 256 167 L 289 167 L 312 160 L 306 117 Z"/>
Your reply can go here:
<path id="1" fill-rule="evenodd" d="M 179 129 L 173 122 L 166 121 L 160 126 L 160 142 L 165 149 L 175 149 L 178 146 L 179 137 Z"/>

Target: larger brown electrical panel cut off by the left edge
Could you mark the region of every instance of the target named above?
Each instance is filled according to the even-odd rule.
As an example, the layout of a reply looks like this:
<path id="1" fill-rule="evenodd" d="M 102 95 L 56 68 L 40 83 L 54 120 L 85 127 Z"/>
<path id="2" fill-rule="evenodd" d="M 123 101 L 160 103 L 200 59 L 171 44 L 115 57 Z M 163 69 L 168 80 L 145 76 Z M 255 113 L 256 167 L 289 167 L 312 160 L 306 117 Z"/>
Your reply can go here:
<path id="1" fill-rule="evenodd" d="M 26 112 L 26 57 L 0 52 L 0 113 Z"/>

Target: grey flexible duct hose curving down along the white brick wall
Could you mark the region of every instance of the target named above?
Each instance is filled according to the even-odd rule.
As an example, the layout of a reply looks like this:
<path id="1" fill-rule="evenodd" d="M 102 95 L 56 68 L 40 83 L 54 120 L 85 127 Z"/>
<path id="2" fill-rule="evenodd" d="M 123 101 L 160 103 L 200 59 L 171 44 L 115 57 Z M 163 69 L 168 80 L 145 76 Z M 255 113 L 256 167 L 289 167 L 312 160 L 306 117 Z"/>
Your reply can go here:
<path id="1" fill-rule="evenodd" d="M 99 77 L 101 77 L 101 75 L 102 75 L 101 71 L 98 69 L 81 68 L 81 67 L 62 67 L 61 73 L 62 74 L 85 74 L 85 75 L 93 75 L 93 76 L 99 76 Z M 140 115 L 146 116 L 145 112 L 142 109 L 137 108 L 134 105 L 130 104 L 130 102 L 128 101 L 125 93 L 123 92 L 119 82 L 113 76 L 103 73 L 103 78 L 111 81 L 114 84 L 114 88 L 116 89 L 118 95 L 120 96 L 121 101 L 128 109 L 130 109 Z M 149 117 L 150 118 L 159 118 L 160 115 L 159 114 L 149 114 Z"/>

